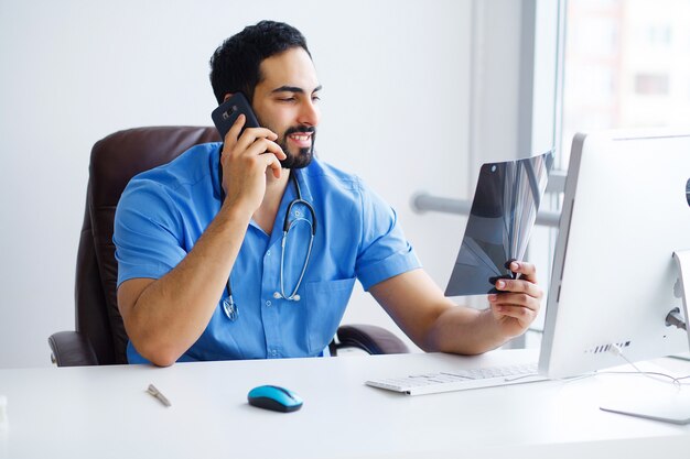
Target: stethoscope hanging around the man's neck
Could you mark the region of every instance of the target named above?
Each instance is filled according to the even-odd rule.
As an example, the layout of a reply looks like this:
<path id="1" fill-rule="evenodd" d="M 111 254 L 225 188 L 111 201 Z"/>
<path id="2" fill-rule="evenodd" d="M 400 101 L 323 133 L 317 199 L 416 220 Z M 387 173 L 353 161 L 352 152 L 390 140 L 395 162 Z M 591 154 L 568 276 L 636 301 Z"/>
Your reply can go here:
<path id="1" fill-rule="evenodd" d="M 220 167 L 218 167 L 218 175 L 220 177 L 220 179 L 219 179 L 220 195 L 222 195 L 220 200 L 223 201 L 223 199 L 225 198 L 225 193 L 223 190 L 223 170 Z M 289 302 L 299 302 L 301 296 L 298 294 L 298 289 L 300 289 L 300 286 L 302 285 L 302 280 L 304 278 L 304 273 L 306 272 L 306 266 L 309 265 L 309 261 L 310 261 L 310 259 L 312 256 L 312 247 L 314 244 L 314 236 L 316 234 L 316 212 L 314 212 L 314 208 L 312 207 L 311 204 L 309 204 L 306 200 L 302 199 L 302 190 L 300 189 L 300 184 L 299 184 L 298 178 L 297 178 L 297 171 L 291 171 L 290 172 L 290 179 L 294 184 L 294 188 L 297 189 L 298 196 L 297 196 L 297 198 L 292 199 L 292 201 L 290 201 L 290 204 L 288 205 L 288 209 L 285 210 L 285 217 L 284 217 L 283 226 L 282 226 L 282 240 L 280 242 L 280 248 L 281 248 L 281 253 L 280 253 L 280 292 L 276 291 L 273 293 L 273 298 L 276 298 L 276 299 L 287 299 Z M 304 218 L 300 214 L 299 210 L 297 210 L 294 212 L 297 218 L 294 218 L 293 220 L 290 220 L 290 214 L 292 211 L 292 208 L 297 204 L 304 205 L 304 207 L 311 214 L 311 220 L 309 218 Z M 287 241 L 288 241 L 288 233 L 290 232 L 292 227 L 294 227 L 300 221 L 305 221 L 306 225 L 309 225 L 309 227 L 311 229 L 311 237 L 309 239 L 309 245 L 308 245 L 308 249 L 306 249 L 306 256 L 304 258 L 304 264 L 302 264 L 302 272 L 300 273 L 300 277 L 299 277 L 297 284 L 294 284 L 294 288 L 292 289 L 292 293 L 290 295 L 287 295 L 285 294 L 285 287 L 284 287 L 284 281 L 283 281 L 283 278 L 284 278 L 283 272 L 284 272 L 284 263 L 285 263 L 285 245 L 287 245 Z M 237 303 L 235 303 L 235 299 L 233 298 L 233 287 L 230 286 L 230 277 L 231 277 L 231 272 L 230 272 L 230 276 L 228 276 L 227 284 L 225 286 L 225 291 L 227 292 L 228 296 L 225 299 L 223 299 L 223 312 L 225 313 L 225 315 L 227 316 L 228 319 L 230 319 L 231 321 L 235 321 L 235 320 L 237 320 L 237 317 L 239 316 L 239 309 L 238 309 Z"/>

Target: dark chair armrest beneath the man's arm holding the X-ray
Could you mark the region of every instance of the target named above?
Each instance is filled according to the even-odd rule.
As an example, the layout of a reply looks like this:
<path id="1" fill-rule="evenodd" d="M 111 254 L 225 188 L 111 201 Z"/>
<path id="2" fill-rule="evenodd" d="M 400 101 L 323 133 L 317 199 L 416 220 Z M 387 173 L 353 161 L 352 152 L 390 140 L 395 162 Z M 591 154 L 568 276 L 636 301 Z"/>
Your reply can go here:
<path id="1" fill-rule="evenodd" d="M 337 349 L 357 348 L 371 356 L 410 351 L 400 338 L 375 325 L 342 325 L 337 329 L 336 337 Z"/>

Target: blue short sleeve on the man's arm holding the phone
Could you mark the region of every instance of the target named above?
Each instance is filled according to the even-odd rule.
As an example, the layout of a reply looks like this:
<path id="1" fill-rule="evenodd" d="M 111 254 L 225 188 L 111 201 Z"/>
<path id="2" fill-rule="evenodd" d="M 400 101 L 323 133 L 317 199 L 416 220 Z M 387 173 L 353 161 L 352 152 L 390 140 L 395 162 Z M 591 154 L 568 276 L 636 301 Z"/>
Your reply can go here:
<path id="1" fill-rule="evenodd" d="M 115 214 L 112 241 L 118 286 L 130 278 L 159 278 L 184 259 L 182 225 L 172 198 L 160 184 L 132 181 Z"/>

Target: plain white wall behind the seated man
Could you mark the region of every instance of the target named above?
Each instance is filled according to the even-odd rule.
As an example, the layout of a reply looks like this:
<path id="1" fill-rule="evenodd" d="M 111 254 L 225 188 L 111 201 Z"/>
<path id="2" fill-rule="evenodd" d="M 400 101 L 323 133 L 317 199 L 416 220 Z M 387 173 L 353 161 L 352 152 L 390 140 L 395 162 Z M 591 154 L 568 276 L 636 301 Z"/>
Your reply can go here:
<path id="1" fill-rule="evenodd" d="M 400 215 L 442 286 L 464 220 L 409 207 L 466 197 L 470 0 L 0 0 L 0 368 L 46 365 L 74 329 L 74 266 L 90 146 L 114 131 L 211 124 L 207 61 L 244 25 L 308 37 L 322 84 L 321 156 Z M 356 292 L 346 321 L 390 326 Z"/>

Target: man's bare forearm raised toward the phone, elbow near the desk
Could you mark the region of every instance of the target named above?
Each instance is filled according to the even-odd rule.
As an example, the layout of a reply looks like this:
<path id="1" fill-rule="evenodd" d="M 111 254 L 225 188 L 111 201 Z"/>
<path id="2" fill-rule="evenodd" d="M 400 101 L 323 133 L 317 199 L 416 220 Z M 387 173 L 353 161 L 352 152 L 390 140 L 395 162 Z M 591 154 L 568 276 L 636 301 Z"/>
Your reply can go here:
<path id="1" fill-rule="evenodd" d="M 128 313 L 120 304 L 129 338 L 144 358 L 160 365 L 172 364 L 203 334 L 250 218 L 247 211 L 224 206 L 177 266 L 145 286 L 138 298 L 130 298 Z"/>

